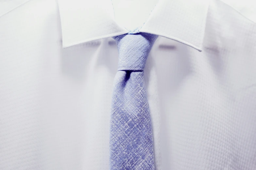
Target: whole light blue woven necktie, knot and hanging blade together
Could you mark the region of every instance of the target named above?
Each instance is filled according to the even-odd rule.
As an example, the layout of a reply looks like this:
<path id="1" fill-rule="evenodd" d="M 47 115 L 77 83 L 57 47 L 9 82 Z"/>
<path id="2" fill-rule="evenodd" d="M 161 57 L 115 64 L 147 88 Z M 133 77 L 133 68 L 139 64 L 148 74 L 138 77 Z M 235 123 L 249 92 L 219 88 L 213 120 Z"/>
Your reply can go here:
<path id="1" fill-rule="evenodd" d="M 110 122 L 110 169 L 154 170 L 153 135 L 143 70 L 158 36 L 113 37 L 119 52 Z"/>

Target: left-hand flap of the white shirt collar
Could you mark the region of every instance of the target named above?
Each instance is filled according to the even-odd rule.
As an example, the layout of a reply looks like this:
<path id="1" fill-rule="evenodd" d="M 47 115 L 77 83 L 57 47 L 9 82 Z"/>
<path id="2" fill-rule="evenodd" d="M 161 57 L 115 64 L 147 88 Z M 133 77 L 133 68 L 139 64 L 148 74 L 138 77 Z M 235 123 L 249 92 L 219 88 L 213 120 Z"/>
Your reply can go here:
<path id="1" fill-rule="evenodd" d="M 110 0 L 59 0 L 58 2 L 64 48 L 128 33 L 114 21 Z"/>

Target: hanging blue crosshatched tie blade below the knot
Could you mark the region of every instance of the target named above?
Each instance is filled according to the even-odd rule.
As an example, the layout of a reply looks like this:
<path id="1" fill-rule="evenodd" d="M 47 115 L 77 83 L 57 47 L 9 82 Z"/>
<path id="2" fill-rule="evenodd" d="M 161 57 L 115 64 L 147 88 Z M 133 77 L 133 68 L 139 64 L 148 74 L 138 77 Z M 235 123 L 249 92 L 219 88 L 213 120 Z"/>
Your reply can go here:
<path id="1" fill-rule="evenodd" d="M 154 169 L 143 72 L 118 71 L 111 110 L 110 169 Z"/>

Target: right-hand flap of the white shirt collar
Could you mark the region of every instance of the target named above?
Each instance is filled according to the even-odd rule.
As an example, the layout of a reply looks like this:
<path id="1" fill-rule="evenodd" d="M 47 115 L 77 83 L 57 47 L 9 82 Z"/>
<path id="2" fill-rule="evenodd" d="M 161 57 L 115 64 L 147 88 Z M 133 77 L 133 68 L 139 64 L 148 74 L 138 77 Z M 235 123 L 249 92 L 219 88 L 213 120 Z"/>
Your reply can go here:
<path id="1" fill-rule="evenodd" d="M 201 51 L 208 5 L 209 0 L 161 0 L 140 31 L 171 38 Z"/>

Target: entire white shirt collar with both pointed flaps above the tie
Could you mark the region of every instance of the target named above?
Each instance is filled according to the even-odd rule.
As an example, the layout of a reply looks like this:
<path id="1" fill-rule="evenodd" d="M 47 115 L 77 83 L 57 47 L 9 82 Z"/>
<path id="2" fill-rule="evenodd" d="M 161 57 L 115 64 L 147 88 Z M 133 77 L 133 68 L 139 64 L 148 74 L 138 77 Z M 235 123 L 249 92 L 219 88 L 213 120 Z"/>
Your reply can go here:
<path id="1" fill-rule="evenodd" d="M 138 13 L 128 16 L 128 13 L 120 12 L 116 4 L 125 0 L 116 1 L 59 0 L 63 48 L 111 36 L 145 32 L 201 51 L 209 0 L 155 0 L 154 6 L 140 5 L 143 14 L 148 11 L 144 22 L 136 19 Z M 127 17 L 130 17 L 129 21 L 136 21 L 136 29 L 134 24 L 131 24 L 132 30 L 124 26 Z"/>

